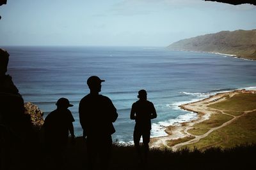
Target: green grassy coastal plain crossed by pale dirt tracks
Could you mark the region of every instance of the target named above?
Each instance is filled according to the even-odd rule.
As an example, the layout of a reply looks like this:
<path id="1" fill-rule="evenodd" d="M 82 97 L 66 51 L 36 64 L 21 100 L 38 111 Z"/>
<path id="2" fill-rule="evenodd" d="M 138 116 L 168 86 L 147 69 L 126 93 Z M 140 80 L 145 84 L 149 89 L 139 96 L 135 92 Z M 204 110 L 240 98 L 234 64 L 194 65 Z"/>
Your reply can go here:
<path id="1" fill-rule="evenodd" d="M 211 134 L 200 139 L 197 143 L 185 145 L 182 148 L 193 149 L 196 147 L 205 149 L 212 146 L 230 148 L 244 143 L 256 143 L 256 111 L 253 111 L 256 109 L 256 94 L 239 93 L 208 107 L 222 110 L 224 113 L 234 116 L 241 115 L 241 117 L 237 117 L 231 124 L 211 132 Z M 227 122 L 230 118 L 232 117 L 224 114 L 212 115 L 209 120 L 195 124 L 195 129 L 191 129 L 188 132 L 194 135 L 203 134 L 207 129 L 217 127 Z"/>

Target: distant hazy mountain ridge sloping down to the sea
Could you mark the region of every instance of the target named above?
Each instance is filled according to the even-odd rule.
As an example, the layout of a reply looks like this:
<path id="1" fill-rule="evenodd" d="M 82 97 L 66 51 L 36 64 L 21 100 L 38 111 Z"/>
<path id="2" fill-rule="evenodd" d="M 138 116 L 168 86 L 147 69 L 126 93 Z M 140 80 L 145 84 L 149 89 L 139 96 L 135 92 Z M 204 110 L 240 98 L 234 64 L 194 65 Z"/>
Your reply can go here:
<path id="1" fill-rule="evenodd" d="M 227 53 L 256 60 L 256 29 L 221 31 L 172 43 L 170 50 Z"/>

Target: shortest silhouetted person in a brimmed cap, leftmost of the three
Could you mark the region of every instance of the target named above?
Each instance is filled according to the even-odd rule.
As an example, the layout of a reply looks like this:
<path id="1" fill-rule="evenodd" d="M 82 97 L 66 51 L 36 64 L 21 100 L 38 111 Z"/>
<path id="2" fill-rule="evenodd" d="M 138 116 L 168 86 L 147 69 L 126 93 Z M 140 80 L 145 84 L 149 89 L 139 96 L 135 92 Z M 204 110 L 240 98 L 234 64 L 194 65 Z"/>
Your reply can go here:
<path id="1" fill-rule="evenodd" d="M 44 122 L 46 169 L 63 169 L 66 160 L 68 132 L 74 143 L 74 117 L 68 107 L 73 105 L 68 99 L 60 98 L 56 103 L 57 109 L 49 113 Z"/>

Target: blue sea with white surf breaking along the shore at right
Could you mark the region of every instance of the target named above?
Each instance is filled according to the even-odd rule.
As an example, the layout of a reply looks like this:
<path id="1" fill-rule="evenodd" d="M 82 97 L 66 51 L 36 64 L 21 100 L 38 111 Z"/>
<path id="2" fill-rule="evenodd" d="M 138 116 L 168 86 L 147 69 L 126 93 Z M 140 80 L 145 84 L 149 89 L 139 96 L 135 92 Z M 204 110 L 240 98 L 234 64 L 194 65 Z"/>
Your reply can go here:
<path id="1" fill-rule="evenodd" d="M 129 120 L 138 90 L 146 89 L 158 117 L 152 120 L 152 136 L 164 136 L 164 126 L 196 118 L 180 110 L 188 103 L 217 92 L 256 86 L 256 62 L 226 55 L 173 52 L 166 48 L 100 46 L 6 46 L 12 75 L 24 101 L 44 111 L 56 108 L 67 97 L 77 136 L 82 134 L 78 104 L 88 94 L 86 80 L 97 75 L 106 80 L 101 94 L 118 110 L 113 140 L 132 141 L 134 121 Z M 97 120 L 92 120 L 97 125 Z M 100 132 L 99 132 L 100 134 Z"/>

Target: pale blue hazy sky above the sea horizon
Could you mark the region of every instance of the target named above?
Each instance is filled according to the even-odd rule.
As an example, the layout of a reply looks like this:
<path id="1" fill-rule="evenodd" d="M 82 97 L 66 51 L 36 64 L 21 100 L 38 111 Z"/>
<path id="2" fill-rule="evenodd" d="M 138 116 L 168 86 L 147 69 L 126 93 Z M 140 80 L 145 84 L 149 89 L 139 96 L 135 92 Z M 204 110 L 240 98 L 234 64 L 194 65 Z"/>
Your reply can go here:
<path id="1" fill-rule="evenodd" d="M 8 0 L 0 46 L 168 46 L 256 29 L 256 6 L 202 0 Z"/>

